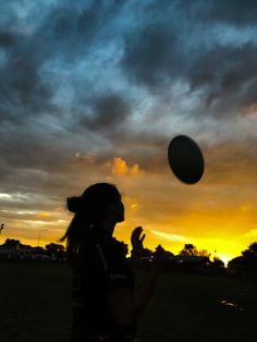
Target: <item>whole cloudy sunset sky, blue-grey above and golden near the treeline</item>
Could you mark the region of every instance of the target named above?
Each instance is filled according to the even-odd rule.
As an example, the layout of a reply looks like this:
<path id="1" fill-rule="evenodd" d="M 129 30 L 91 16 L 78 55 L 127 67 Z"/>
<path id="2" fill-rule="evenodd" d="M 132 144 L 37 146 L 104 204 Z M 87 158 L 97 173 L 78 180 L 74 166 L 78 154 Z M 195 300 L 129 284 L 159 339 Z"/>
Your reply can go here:
<path id="1" fill-rule="evenodd" d="M 255 0 L 0 5 L 0 243 L 57 242 L 96 182 L 122 193 L 126 243 L 142 225 L 148 248 L 229 259 L 257 241 Z M 179 134 L 203 150 L 197 184 L 169 168 Z"/>

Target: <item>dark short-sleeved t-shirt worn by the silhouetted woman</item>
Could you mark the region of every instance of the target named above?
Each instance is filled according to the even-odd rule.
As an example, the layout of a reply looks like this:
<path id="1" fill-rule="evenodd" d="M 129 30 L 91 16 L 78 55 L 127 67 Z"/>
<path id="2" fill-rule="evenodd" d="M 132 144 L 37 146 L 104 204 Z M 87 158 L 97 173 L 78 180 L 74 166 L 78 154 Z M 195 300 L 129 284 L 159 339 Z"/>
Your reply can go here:
<path id="1" fill-rule="evenodd" d="M 126 335 L 134 335 L 136 325 L 120 327 L 108 303 L 108 294 L 119 288 L 134 291 L 124 248 L 107 231 L 94 228 L 73 272 L 72 341 L 87 341 L 88 335 L 100 333 L 122 342 Z"/>

